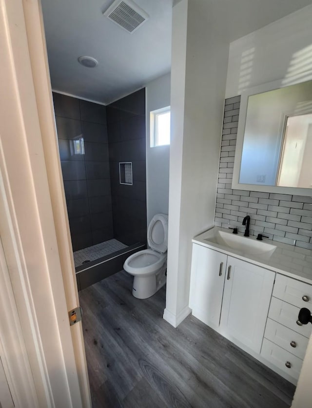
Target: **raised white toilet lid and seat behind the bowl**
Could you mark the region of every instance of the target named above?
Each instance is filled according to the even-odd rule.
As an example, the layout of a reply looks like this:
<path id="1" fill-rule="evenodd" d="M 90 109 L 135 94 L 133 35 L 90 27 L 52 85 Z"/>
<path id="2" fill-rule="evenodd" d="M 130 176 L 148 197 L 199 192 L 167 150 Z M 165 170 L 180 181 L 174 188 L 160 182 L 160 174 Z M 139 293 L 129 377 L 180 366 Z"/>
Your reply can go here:
<path id="1" fill-rule="evenodd" d="M 154 215 L 147 230 L 147 242 L 153 250 L 165 253 L 168 248 L 168 215 Z"/>

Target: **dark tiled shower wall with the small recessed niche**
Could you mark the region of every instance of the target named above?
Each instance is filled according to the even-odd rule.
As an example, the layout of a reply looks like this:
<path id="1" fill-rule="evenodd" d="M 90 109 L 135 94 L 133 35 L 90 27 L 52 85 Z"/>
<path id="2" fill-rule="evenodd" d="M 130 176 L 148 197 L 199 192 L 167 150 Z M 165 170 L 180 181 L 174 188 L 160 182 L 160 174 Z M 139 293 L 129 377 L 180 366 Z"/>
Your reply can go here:
<path id="1" fill-rule="evenodd" d="M 106 108 L 114 235 L 126 245 L 145 243 L 145 89 Z M 119 183 L 119 162 L 132 162 L 133 185 Z"/>

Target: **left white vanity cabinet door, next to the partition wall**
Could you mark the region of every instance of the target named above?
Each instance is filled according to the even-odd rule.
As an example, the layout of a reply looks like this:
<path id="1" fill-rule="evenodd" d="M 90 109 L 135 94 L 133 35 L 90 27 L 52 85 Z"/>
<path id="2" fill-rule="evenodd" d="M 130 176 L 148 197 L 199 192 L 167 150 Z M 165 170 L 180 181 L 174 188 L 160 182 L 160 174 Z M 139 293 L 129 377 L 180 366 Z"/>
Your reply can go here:
<path id="1" fill-rule="evenodd" d="M 226 261 L 224 253 L 193 244 L 190 308 L 213 328 L 220 322 Z"/>

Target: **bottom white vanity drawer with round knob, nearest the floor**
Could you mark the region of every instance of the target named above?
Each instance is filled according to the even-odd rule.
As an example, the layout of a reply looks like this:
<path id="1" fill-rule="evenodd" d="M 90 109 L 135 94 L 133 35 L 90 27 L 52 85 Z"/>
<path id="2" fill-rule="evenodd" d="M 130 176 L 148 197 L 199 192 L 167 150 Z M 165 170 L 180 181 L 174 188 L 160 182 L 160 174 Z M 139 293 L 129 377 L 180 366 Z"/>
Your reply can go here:
<path id="1" fill-rule="evenodd" d="M 262 357 L 270 361 L 294 379 L 298 379 L 303 360 L 282 349 L 267 339 L 263 339 L 261 353 Z M 290 368 L 286 367 L 290 363 Z"/>

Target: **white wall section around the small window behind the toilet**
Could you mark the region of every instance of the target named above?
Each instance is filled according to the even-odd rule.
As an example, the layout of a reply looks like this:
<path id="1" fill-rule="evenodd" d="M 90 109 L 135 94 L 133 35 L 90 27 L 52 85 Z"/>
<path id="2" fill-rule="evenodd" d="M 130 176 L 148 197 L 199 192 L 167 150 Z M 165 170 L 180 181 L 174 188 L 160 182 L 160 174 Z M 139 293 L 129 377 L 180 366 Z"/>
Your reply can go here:
<path id="1" fill-rule="evenodd" d="M 167 74 L 146 85 L 147 225 L 155 214 L 168 214 L 170 146 L 150 146 L 150 112 L 169 105 L 170 74 Z"/>

